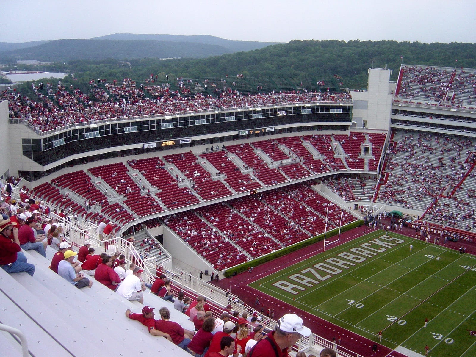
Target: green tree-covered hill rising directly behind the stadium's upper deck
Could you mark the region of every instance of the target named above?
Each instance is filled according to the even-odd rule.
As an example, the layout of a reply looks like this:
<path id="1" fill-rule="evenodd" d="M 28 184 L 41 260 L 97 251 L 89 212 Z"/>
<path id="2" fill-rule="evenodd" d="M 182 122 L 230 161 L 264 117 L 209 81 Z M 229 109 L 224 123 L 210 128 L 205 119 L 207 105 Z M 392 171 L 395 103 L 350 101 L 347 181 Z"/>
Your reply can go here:
<path id="1" fill-rule="evenodd" d="M 106 40 L 104 40 L 106 41 Z M 117 43 L 118 41 L 110 41 Z M 125 41 L 127 42 L 127 41 Z M 145 43 L 149 41 L 144 41 Z M 180 43 L 175 43 L 179 45 Z M 47 45 L 47 44 L 45 44 Z M 44 46 L 44 45 L 43 45 Z M 118 48 L 119 50 L 119 48 Z M 118 60 L 81 60 L 35 67 L 48 71 L 74 73 L 75 78 L 146 79 L 151 72 L 170 78 L 230 77 L 242 73 L 256 78 L 269 75 L 291 77 L 297 82 L 319 80 L 319 76 L 340 75 L 348 88 L 367 87 L 369 67 L 393 69 L 397 80 L 402 63 L 426 66 L 476 68 L 476 44 L 397 41 L 291 41 L 259 50 L 237 52 L 205 59 L 129 60 L 131 67 Z M 124 56 L 123 58 L 125 58 Z M 166 56 L 164 56 L 166 57 Z M 33 68 L 33 67 L 31 67 Z"/>

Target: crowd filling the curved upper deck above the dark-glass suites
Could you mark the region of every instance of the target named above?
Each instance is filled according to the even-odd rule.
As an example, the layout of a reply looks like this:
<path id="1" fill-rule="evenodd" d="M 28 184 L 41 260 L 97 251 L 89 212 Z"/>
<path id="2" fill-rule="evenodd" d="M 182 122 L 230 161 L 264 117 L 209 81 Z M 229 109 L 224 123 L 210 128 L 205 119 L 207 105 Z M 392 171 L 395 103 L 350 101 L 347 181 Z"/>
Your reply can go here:
<path id="1" fill-rule="evenodd" d="M 41 85 L 32 84 L 36 98 L 21 95 L 16 89 L 0 92 L 0 99 L 9 100 L 11 119 L 22 119 L 39 130 L 58 129 L 73 123 L 101 119 L 124 118 L 144 115 L 170 115 L 181 112 L 196 112 L 207 109 L 231 109 L 250 106 L 265 106 L 298 102 L 342 102 L 350 101 L 347 93 L 308 93 L 299 91 L 270 92 L 244 95 L 236 90 L 227 90 L 212 95 L 196 93 L 188 97 L 170 93 L 169 86 L 140 86 L 135 81 L 124 79 L 120 84 L 105 79 L 90 81 L 90 96 L 79 89 L 66 89 L 61 82 L 57 90 L 50 90 L 58 105 L 50 98 Z M 146 95 L 145 91 L 151 91 Z M 155 99 L 154 99 L 155 98 Z"/>

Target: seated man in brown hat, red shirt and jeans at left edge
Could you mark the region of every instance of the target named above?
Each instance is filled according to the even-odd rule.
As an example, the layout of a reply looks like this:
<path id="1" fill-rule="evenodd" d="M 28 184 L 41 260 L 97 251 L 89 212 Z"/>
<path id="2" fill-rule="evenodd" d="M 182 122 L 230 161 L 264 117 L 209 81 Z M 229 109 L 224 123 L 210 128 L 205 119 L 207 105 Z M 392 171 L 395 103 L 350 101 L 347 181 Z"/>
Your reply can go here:
<path id="1" fill-rule="evenodd" d="M 17 222 L 15 224 L 18 225 Z M 13 241 L 10 239 L 13 236 L 12 232 L 13 224 L 10 219 L 2 220 L 0 222 L 0 266 L 7 273 L 26 271 L 33 276 L 35 266 L 27 263 L 27 258 L 21 252 L 18 238 L 14 238 Z"/>

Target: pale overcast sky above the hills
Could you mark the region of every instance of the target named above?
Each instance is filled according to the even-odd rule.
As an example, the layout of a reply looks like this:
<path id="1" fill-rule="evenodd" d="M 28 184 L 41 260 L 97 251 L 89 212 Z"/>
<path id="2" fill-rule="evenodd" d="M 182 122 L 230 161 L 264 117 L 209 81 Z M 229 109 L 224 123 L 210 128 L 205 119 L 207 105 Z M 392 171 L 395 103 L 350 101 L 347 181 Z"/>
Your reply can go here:
<path id="1" fill-rule="evenodd" d="M 476 42 L 476 0 L 2 0 L 0 42 L 111 33 Z"/>

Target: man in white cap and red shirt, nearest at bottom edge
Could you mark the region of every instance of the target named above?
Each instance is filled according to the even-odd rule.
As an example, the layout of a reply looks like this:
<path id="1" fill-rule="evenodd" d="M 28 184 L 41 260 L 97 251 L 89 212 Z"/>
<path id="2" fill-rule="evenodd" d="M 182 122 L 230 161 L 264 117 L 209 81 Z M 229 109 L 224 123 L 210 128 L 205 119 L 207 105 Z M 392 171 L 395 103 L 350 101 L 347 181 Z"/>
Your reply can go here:
<path id="1" fill-rule="evenodd" d="M 302 318 L 295 314 L 286 314 L 278 320 L 275 330 L 268 333 L 253 346 L 251 357 L 288 357 L 288 348 L 294 346 L 299 338 L 309 337 L 311 330 L 304 326 Z"/>

